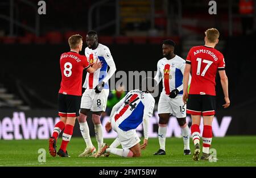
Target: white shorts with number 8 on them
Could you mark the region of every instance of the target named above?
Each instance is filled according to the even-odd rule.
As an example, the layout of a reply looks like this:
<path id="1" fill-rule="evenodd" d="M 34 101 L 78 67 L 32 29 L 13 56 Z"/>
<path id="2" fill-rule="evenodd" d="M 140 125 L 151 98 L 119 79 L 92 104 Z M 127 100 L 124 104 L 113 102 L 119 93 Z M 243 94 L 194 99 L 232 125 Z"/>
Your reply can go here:
<path id="1" fill-rule="evenodd" d="M 82 94 L 81 108 L 91 111 L 105 111 L 108 101 L 109 89 L 102 89 L 101 93 L 95 93 L 94 89 L 86 89 Z"/>

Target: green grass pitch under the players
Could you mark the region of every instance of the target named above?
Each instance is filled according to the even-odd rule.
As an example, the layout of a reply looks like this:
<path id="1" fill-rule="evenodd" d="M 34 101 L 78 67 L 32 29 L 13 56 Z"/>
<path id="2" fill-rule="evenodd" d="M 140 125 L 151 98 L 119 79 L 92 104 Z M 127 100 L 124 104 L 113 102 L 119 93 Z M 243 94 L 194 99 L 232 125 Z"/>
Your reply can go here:
<path id="1" fill-rule="evenodd" d="M 143 138 L 141 138 L 143 139 Z M 105 139 L 106 143 L 112 143 L 114 139 Z M 96 139 L 92 138 L 94 146 Z M 141 141 L 142 142 L 142 141 Z M 192 140 L 191 140 L 192 142 Z M 61 139 L 57 142 L 59 148 Z M 48 140 L 0 140 L 0 166 L 256 166 L 256 136 L 226 136 L 213 138 L 212 148 L 217 151 L 217 162 L 193 161 L 192 155 L 183 155 L 182 138 L 167 138 L 167 155 L 154 156 L 159 149 L 157 138 L 150 138 L 146 150 L 142 150 L 141 158 L 122 158 L 110 155 L 109 158 L 79 158 L 84 150 L 82 138 L 72 138 L 68 144 L 68 152 L 71 158 L 53 158 L 48 153 Z M 38 150 L 46 150 L 46 162 L 38 162 Z M 191 151 L 193 145 L 191 143 Z"/>

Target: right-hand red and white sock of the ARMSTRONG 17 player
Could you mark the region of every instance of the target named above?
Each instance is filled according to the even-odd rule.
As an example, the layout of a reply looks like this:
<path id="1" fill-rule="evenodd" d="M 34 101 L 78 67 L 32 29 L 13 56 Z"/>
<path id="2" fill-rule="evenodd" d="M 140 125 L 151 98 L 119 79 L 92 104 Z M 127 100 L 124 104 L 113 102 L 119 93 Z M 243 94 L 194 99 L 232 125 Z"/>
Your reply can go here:
<path id="1" fill-rule="evenodd" d="M 203 152 L 209 154 L 210 144 L 212 143 L 212 126 L 204 126 L 203 130 Z"/>

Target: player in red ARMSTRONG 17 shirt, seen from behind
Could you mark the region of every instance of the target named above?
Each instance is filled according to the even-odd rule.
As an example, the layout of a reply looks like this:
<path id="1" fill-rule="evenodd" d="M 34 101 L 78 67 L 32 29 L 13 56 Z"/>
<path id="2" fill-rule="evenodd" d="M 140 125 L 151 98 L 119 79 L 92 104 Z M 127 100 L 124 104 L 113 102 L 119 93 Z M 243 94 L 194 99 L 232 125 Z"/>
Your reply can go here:
<path id="1" fill-rule="evenodd" d="M 220 33 L 216 28 L 205 31 L 205 45 L 192 47 L 188 52 L 183 81 L 183 102 L 187 103 L 187 113 L 191 114 L 191 134 L 195 144 L 193 160 L 199 160 L 201 115 L 203 115 L 203 155 L 201 160 L 209 159 L 209 148 L 212 143 L 212 121 L 215 114 L 216 92 L 215 77 L 220 74 L 222 89 L 225 96 L 224 108 L 229 107 L 228 77 L 225 72 L 225 61 L 222 53 L 214 49 Z M 192 72 L 189 94 L 188 77 Z"/>

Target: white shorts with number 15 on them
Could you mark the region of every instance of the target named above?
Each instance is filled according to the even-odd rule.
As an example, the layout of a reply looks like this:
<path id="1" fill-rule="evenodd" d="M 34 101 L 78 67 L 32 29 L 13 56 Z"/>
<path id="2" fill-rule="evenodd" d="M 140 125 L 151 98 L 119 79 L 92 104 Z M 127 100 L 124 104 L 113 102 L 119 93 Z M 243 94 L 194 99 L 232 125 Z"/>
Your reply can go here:
<path id="1" fill-rule="evenodd" d="M 186 117 L 186 105 L 182 100 L 182 95 L 170 98 L 164 92 L 160 94 L 158 102 L 158 114 L 170 113 L 176 118 Z"/>

